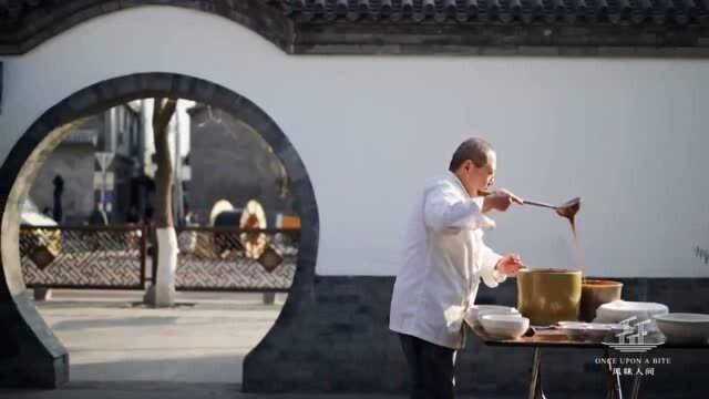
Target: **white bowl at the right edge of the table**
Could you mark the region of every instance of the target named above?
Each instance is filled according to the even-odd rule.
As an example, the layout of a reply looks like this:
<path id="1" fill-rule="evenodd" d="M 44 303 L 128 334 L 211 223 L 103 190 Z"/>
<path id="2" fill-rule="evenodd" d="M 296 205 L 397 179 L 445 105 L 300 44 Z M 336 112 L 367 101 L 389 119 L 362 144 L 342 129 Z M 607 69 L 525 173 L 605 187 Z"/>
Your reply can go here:
<path id="1" fill-rule="evenodd" d="M 655 316 L 657 328 L 672 344 L 707 344 L 709 341 L 709 315 L 667 314 Z"/>

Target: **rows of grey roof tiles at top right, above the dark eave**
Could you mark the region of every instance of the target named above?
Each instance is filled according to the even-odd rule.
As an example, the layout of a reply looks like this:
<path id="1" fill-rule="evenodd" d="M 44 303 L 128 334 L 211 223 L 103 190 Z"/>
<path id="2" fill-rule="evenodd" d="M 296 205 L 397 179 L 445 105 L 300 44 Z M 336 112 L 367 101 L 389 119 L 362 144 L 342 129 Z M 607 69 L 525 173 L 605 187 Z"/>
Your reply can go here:
<path id="1" fill-rule="evenodd" d="M 709 0 L 281 0 L 298 21 L 707 24 Z"/>

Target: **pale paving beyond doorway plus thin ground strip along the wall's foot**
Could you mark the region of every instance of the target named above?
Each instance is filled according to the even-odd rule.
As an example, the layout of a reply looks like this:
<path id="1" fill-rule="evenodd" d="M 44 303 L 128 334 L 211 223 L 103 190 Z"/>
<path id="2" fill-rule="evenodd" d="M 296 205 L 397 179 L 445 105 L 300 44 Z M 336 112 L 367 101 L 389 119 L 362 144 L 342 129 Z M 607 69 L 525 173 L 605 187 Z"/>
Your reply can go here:
<path id="1" fill-rule="evenodd" d="M 169 309 L 145 308 L 141 297 L 141 291 L 53 290 L 50 300 L 38 301 L 69 349 L 71 382 L 58 390 L 0 389 L 0 398 L 404 398 L 242 392 L 243 358 L 274 324 L 284 294 L 264 305 L 260 294 L 178 293 L 178 306 Z"/>

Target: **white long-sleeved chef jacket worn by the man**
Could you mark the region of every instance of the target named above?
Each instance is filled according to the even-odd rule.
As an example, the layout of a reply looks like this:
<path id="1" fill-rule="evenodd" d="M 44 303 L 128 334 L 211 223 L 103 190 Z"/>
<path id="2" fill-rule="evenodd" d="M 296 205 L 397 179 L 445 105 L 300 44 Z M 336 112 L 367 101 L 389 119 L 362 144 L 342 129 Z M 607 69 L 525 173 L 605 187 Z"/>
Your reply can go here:
<path id="1" fill-rule="evenodd" d="M 483 197 L 470 197 L 455 174 L 430 181 L 408 222 L 389 328 L 452 349 L 463 346 L 463 319 L 480 279 L 494 288 L 506 277 L 501 256 L 483 243 L 494 222 Z"/>

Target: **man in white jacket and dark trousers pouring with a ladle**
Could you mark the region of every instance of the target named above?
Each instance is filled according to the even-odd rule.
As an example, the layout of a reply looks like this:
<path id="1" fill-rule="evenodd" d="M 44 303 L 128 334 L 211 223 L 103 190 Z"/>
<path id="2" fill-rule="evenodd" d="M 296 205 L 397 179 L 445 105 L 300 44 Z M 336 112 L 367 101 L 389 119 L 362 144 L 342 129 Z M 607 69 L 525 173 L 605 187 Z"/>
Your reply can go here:
<path id="1" fill-rule="evenodd" d="M 496 287 L 523 267 L 518 255 L 497 255 L 482 239 L 483 228 L 494 226 L 486 213 L 523 203 L 504 190 L 481 195 L 495 168 L 487 142 L 464 141 L 449 172 L 425 185 L 409 218 L 389 328 L 401 338 L 411 398 L 454 398 L 455 352 L 463 346 L 463 318 L 480 279 Z"/>

